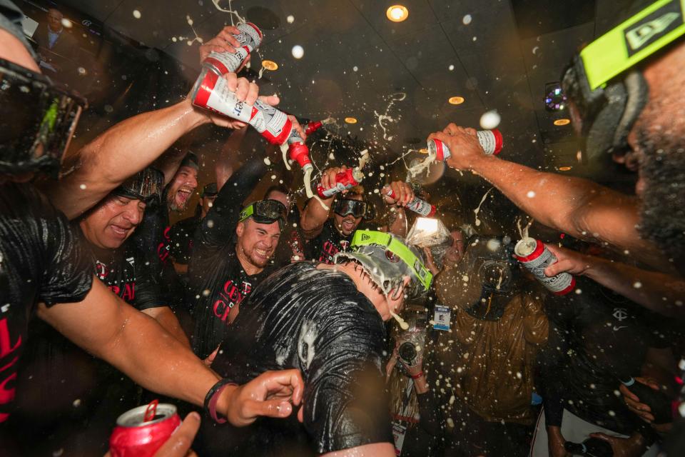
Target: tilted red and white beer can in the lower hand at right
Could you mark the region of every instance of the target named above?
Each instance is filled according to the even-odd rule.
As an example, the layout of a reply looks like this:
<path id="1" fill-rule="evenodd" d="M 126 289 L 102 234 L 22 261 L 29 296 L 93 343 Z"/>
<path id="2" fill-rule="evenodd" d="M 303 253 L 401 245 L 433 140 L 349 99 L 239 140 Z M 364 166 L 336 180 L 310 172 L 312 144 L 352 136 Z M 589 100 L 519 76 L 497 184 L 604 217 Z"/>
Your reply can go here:
<path id="1" fill-rule="evenodd" d="M 543 286 L 557 295 L 566 295 L 576 286 L 576 278 L 569 273 L 557 276 L 545 276 L 544 268 L 557 261 L 557 257 L 535 238 L 523 238 L 514 246 L 514 255 L 522 265 L 542 283 Z"/>

